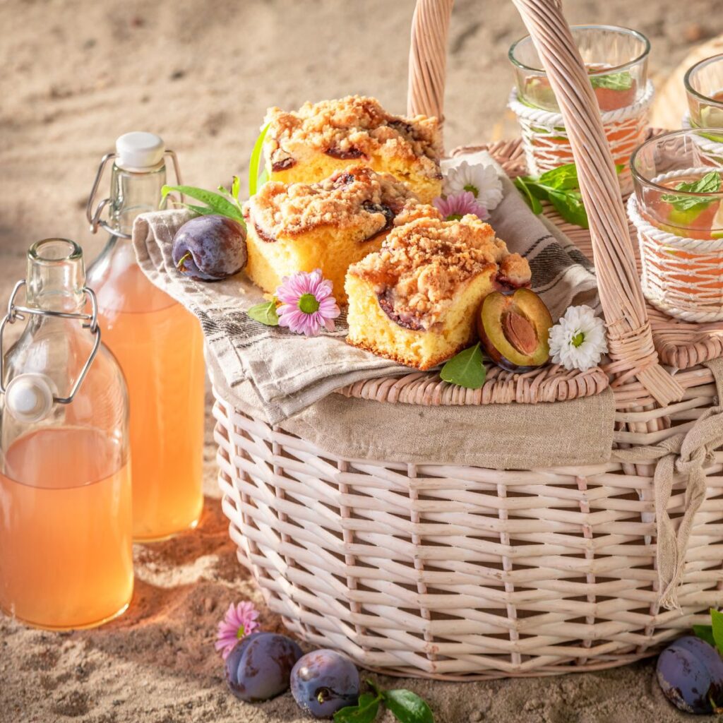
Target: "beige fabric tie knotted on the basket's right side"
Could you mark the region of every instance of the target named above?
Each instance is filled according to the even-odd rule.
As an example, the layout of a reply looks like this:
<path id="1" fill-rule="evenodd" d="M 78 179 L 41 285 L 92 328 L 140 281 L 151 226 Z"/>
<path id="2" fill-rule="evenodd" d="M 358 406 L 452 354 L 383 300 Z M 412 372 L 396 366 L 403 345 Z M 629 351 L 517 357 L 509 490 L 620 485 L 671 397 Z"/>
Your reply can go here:
<path id="1" fill-rule="evenodd" d="M 708 361 L 716 381 L 720 406 L 706 409 L 688 432 L 668 437 L 657 445 L 614 450 L 617 461 L 646 464 L 657 460 L 653 477 L 656 517 L 656 559 L 658 604 L 682 612 L 678 588 L 683 579 L 693 519 L 706 498 L 706 466 L 714 461 L 714 451 L 723 447 L 723 359 Z M 675 474 L 685 479 L 685 511 L 675 531 L 667 507 Z"/>

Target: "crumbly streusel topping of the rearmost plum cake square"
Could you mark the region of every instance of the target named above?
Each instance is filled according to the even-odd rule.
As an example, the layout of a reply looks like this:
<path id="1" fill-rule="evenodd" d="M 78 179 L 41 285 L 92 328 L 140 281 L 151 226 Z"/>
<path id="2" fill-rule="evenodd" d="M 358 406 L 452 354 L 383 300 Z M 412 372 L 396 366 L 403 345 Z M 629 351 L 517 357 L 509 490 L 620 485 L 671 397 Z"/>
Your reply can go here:
<path id="1" fill-rule="evenodd" d="M 419 162 L 420 172 L 431 178 L 440 174 L 442 141 L 436 118 L 393 116 L 376 98 L 348 95 L 341 100 L 304 103 L 299 111 L 269 108 L 266 143 L 271 161 L 283 167 L 293 158 L 296 143 L 309 145 L 337 158 L 375 154 Z"/>

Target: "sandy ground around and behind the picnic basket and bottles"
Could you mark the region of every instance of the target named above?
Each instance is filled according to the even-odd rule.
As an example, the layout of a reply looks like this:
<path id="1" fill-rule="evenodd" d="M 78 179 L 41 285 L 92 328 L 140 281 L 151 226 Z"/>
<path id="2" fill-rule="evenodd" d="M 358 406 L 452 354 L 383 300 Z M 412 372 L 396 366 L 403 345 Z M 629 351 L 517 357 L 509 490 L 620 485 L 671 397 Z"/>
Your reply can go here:
<path id="1" fill-rule="evenodd" d="M 573 22 L 617 22 L 649 35 L 660 87 L 693 46 L 723 33 L 718 0 L 567 6 Z M 85 201 L 100 156 L 123 132 L 160 133 L 179 153 L 186 181 L 213 188 L 245 177 L 267 106 L 369 93 L 403 111 L 413 7 L 411 0 L 0 0 L 0 302 L 33 241 L 68 236 L 87 257 L 98 252 L 103 239 L 86 230 Z M 449 147 L 514 134 L 505 55 L 521 35 L 510 2 L 458 0 Z M 663 112 L 680 115 L 675 107 Z M 289 695 L 247 706 L 224 688 L 215 623 L 231 600 L 260 604 L 260 597 L 226 534 L 210 421 L 207 442 L 200 529 L 136 547 L 127 615 L 102 630 L 65 634 L 26 630 L 0 615 L 0 722 L 301 720 Z M 279 626 L 268 613 L 262 622 Z M 649 663 L 555 679 L 403 685 L 429 700 L 440 723 L 688 719 L 664 701 Z"/>

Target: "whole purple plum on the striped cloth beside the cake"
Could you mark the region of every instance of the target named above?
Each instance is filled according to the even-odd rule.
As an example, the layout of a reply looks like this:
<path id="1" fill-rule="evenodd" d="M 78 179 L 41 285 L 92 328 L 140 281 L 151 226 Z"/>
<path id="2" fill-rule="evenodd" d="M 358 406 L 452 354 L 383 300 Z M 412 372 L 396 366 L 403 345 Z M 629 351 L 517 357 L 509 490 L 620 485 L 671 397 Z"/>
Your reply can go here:
<path id="1" fill-rule="evenodd" d="M 246 228 L 226 216 L 197 216 L 176 231 L 171 254 L 184 276 L 221 281 L 246 265 Z"/>

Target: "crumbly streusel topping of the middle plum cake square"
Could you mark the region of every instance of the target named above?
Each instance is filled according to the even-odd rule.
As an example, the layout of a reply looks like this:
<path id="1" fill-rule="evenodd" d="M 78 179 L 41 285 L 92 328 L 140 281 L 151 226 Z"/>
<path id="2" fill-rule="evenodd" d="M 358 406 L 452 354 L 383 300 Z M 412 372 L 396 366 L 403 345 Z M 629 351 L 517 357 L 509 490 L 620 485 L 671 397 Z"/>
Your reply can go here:
<path id="1" fill-rule="evenodd" d="M 367 238 L 411 218 L 440 218 L 402 181 L 367 166 L 343 168 L 314 184 L 269 181 L 249 200 L 247 213 L 269 239 L 303 234 L 317 226 L 359 228 Z"/>

